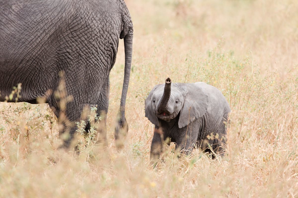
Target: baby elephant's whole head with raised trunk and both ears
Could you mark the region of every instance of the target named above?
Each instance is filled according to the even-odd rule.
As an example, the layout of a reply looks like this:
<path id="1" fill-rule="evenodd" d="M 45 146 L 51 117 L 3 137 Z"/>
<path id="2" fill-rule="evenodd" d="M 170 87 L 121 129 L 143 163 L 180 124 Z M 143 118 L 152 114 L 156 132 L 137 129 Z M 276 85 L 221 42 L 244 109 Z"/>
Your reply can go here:
<path id="1" fill-rule="evenodd" d="M 201 117 L 207 110 L 208 96 L 195 83 L 156 85 L 145 100 L 145 116 L 156 126 L 159 119 L 171 121 L 179 115 L 179 128 Z"/>

